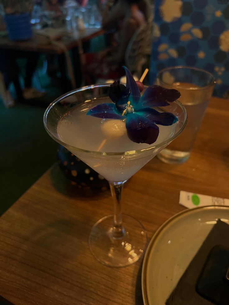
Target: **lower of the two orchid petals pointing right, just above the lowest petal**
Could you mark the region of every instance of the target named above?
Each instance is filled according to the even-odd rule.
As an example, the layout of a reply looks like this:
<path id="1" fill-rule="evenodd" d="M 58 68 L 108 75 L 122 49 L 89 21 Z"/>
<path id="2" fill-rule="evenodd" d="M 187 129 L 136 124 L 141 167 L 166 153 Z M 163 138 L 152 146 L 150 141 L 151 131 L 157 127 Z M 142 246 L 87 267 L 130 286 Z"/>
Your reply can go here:
<path id="1" fill-rule="evenodd" d="M 143 108 L 135 112 L 147 118 L 150 122 L 158 125 L 169 126 L 178 121 L 178 118 L 170 112 L 158 112 L 152 108 Z"/>

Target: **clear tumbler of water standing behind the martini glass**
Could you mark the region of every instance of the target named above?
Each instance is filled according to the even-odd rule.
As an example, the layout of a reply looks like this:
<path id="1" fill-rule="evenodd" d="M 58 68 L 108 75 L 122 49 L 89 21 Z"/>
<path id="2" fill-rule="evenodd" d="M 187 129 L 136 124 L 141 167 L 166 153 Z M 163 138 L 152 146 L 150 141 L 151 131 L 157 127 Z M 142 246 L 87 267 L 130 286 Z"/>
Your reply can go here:
<path id="1" fill-rule="evenodd" d="M 157 156 L 166 163 L 184 163 L 189 159 L 215 80 L 207 71 L 192 67 L 170 67 L 157 75 L 157 85 L 180 91 L 179 101 L 185 106 L 188 121 L 182 135 Z"/>

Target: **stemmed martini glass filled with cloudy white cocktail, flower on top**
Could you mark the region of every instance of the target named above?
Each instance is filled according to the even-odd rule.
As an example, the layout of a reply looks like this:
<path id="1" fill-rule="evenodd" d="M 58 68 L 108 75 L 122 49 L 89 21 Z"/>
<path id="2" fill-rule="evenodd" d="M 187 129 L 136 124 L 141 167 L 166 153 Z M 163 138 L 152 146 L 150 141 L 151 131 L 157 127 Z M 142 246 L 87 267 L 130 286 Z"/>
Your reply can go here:
<path id="1" fill-rule="evenodd" d="M 89 244 L 100 262 L 121 267 L 136 262 L 147 244 L 143 225 L 129 215 L 121 214 L 123 185 L 182 132 L 187 115 L 178 101 L 160 107 L 160 111 L 173 113 L 178 122 L 166 127 L 159 125 L 159 136 L 152 145 L 134 143 L 126 135 L 123 141 L 115 137 L 108 140 L 98 136 L 101 120 L 86 116 L 86 113 L 97 104 L 111 102 L 109 89 L 110 84 L 91 85 L 62 95 L 46 109 L 44 127 L 55 141 L 109 181 L 114 215 L 97 221 L 91 230 Z"/>

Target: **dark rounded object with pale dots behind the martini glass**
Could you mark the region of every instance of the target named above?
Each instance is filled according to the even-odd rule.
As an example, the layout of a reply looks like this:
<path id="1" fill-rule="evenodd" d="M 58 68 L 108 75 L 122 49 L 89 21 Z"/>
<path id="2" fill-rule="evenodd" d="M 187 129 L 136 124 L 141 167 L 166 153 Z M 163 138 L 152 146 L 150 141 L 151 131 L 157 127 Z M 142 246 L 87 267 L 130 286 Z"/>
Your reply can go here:
<path id="1" fill-rule="evenodd" d="M 58 164 L 65 176 L 79 188 L 92 188 L 105 191 L 109 188 L 107 180 L 94 169 L 73 155 L 65 147 L 58 147 Z"/>

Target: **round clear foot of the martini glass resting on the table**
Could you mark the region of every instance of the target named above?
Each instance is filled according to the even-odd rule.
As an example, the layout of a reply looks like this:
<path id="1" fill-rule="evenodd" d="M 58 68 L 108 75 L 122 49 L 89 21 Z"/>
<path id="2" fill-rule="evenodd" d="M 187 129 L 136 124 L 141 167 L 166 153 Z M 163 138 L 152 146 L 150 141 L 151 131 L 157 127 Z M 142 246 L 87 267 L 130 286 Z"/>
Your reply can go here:
<path id="1" fill-rule="evenodd" d="M 105 216 L 93 226 L 89 245 L 93 255 L 101 263 L 112 267 L 124 267 L 138 261 L 145 252 L 147 232 L 135 218 L 122 215 L 123 234 L 113 236 L 114 215 Z"/>

